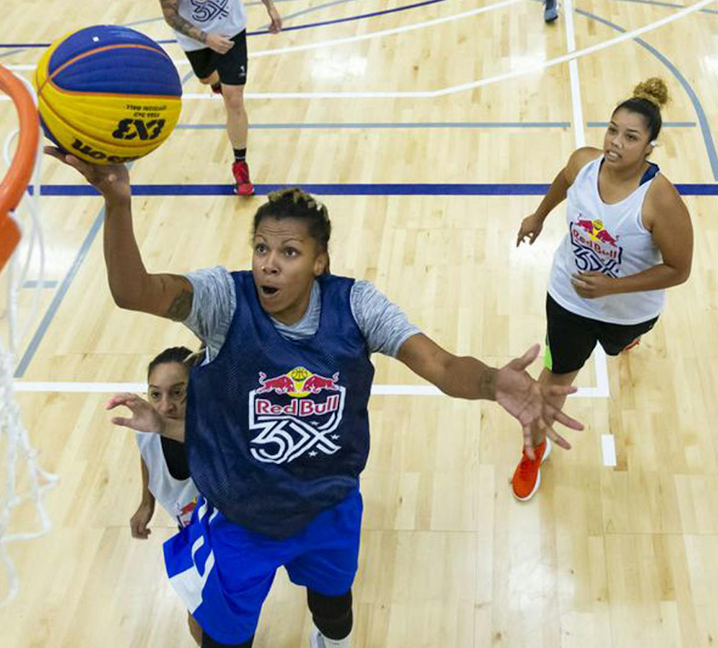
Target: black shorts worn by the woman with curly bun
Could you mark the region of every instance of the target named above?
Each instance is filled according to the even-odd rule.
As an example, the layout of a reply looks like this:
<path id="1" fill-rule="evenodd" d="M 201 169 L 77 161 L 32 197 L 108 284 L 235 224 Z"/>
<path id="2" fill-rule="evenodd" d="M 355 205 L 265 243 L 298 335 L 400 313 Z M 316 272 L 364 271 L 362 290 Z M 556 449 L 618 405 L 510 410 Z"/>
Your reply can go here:
<path id="1" fill-rule="evenodd" d="M 617 356 L 658 318 L 640 324 L 610 324 L 576 315 L 546 295 L 546 356 L 544 364 L 552 374 L 578 371 L 600 343 L 609 356 Z"/>

